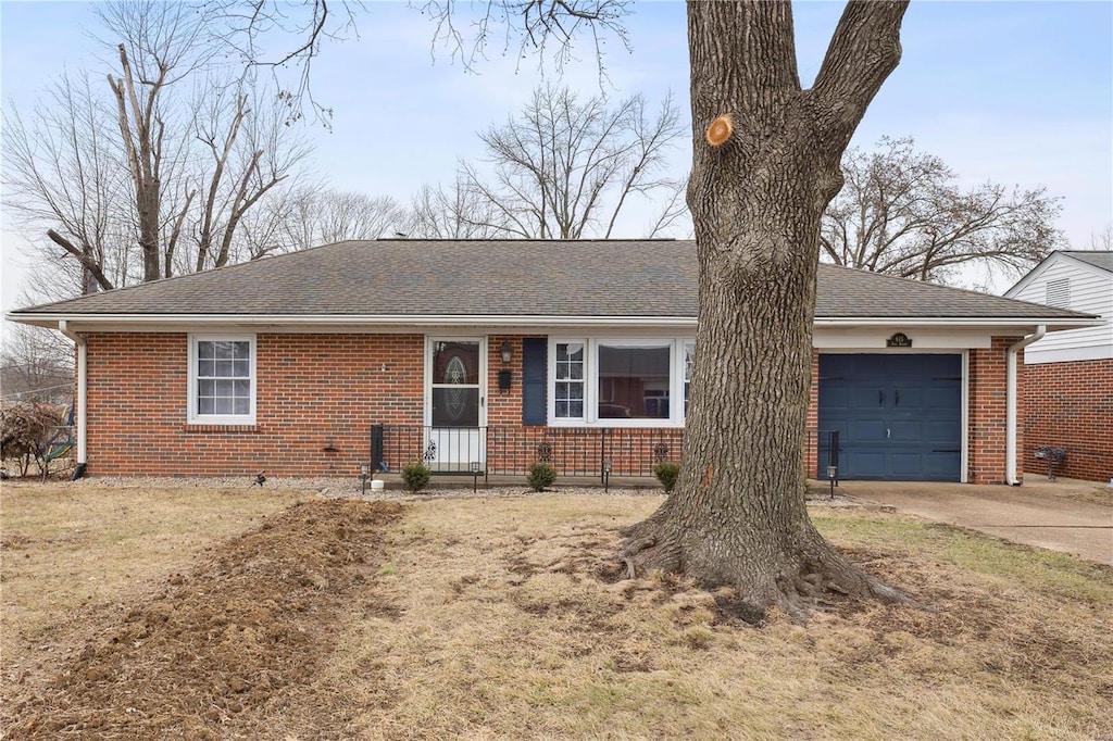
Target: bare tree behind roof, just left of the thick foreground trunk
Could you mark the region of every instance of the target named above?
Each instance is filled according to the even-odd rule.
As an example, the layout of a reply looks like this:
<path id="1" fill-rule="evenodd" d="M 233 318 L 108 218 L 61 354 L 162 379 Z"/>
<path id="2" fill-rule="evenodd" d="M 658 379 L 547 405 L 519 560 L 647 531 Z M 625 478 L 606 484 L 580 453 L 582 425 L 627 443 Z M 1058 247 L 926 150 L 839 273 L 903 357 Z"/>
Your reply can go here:
<path id="1" fill-rule="evenodd" d="M 611 106 L 601 97 L 581 101 L 568 88 L 538 88 L 519 116 L 480 134 L 491 172 L 462 164 L 457 189 L 474 208 L 454 214 L 509 237 L 608 238 L 634 201 L 663 200 L 642 235 L 656 236 L 683 214 L 683 181 L 667 172 L 683 130 L 671 97 L 653 112 L 640 95 Z"/>

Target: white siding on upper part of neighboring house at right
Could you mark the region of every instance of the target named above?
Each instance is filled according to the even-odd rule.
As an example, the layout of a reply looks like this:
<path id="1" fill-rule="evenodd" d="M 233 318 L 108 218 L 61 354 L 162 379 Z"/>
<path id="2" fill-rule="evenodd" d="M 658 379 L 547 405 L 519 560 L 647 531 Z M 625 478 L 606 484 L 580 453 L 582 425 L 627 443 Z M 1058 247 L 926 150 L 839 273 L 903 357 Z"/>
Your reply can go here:
<path id="1" fill-rule="evenodd" d="M 1026 364 L 1096 360 L 1113 358 L 1113 274 L 1099 268 L 1082 267 L 1070 259 L 1051 260 L 1009 298 L 1036 304 L 1047 303 L 1047 284 L 1070 280 L 1070 308 L 1105 317 L 1100 327 L 1050 333 L 1024 350 Z M 1061 285 L 1061 284 L 1058 284 Z M 1055 293 L 1053 290 L 1053 293 Z"/>

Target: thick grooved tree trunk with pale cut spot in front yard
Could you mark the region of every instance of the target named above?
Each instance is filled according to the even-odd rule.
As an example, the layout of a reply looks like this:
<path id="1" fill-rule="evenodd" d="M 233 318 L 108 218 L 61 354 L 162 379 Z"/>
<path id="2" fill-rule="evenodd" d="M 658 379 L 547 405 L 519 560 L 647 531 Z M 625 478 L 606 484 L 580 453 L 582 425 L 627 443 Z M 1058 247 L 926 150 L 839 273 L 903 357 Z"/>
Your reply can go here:
<path id="1" fill-rule="evenodd" d="M 899 59 L 906 2 L 851 2 L 800 90 L 788 2 L 689 2 L 700 261 L 696 373 L 676 492 L 626 555 L 729 585 L 758 618 L 824 592 L 899 599 L 853 567 L 805 506 L 819 221 L 839 160 Z M 732 134 L 705 138 L 728 115 Z"/>

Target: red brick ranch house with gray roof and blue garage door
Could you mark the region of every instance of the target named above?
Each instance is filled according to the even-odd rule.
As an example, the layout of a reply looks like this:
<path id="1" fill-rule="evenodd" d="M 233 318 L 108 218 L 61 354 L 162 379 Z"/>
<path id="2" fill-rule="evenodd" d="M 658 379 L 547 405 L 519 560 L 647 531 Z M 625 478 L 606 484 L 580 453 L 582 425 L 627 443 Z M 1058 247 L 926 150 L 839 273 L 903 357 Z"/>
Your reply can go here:
<path id="1" fill-rule="evenodd" d="M 89 475 L 647 475 L 680 457 L 696 315 L 691 241 L 376 240 L 8 318 L 77 343 Z M 1095 322 L 820 266 L 809 473 L 839 431 L 844 478 L 1020 483 L 1022 347 Z"/>

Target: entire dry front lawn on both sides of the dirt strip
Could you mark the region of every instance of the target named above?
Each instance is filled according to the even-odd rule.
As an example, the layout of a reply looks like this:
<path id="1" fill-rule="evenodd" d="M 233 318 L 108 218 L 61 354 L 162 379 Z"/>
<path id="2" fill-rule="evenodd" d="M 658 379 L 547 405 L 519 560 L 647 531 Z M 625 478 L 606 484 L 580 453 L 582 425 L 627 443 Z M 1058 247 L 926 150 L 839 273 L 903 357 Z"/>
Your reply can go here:
<path id="1" fill-rule="evenodd" d="M 206 581 L 224 573 L 213 563 L 229 554 L 249 562 L 248 547 L 272 561 L 296 556 L 304 537 L 269 537 L 272 525 L 216 544 L 294 497 L 6 490 L 6 678 L 9 643 L 31 674 L 86 666 L 43 654 L 38 641 L 58 654 L 95 639 L 90 630 L 134 630 L 122 615 L 156 610 L 150 600 L 166 591 L 168 574 L 186 574 L 190 589 L 173 594 L 191 614 L 201 593 L 220 587 Z M 609 576 L 618 528 L 659 502 L 406 505 L 358 580 L 339 579 L 343 563 L 322 562 L 314 580 L 325 586 L 311 580 L 299 593 L 304 607 L 321 607 L 315 640 L 328 641 L 304 656 L 301 689 L 287 688 L 280 702 L 259 692 L 257 707 L 223 709 L 209 725 L 199 717 L 188 728 L 264 739 L 1113 738 L 1113 571 L 897 515 L 818 508 L 817 524 L 856 562 L 932 611 L 847 603 L 807 626 L 772 615 L 755 629 L 720 609 L 729 594 L 663 575 Z M 299 512 L 323 517 L 287 512 L 286 532 L 314 532 L 297 526 Z M 14 563 L 21 559 L 29 563 Z M 107 581 L 92 582 L 90 594 L 92 576 Z M 63 593 L 37 595 L 35 583 L 51 579 L 61 579 L 51 589 Z M 151 643 L 173 651 L 164 639 Z M 151 661 L 141 648 L 129 652 L 130 661 Z M 243 703 L 262 686 L 245 679 L 252 691 Z M 75 696 L 87 689 L 77 682 L 68 688 Z M 17 694 L 27 693 L 21 686 Z M 179 700 L 167 696 L 166 705 Z"/>

